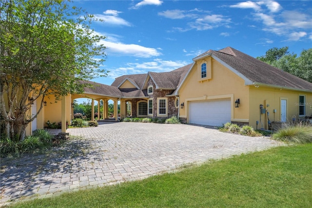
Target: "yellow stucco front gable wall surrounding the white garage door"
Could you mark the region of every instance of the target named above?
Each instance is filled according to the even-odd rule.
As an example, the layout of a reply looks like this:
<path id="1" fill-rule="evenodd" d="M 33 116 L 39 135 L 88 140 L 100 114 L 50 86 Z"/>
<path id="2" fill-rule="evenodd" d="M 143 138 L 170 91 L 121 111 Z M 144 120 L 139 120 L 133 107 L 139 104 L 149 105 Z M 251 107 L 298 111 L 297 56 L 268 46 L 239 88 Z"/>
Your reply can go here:
<path id="1" fill-rule="evenodd" d="M 211 79 L 201 79 L 200 66 L 205 61 L 211 67 Z M 198 60 L 191 69 L 188 77 L 179 90 L 180 103 L 184 103 L 184 108 L 180 109 L 180 117 L 187 118 L 188 105 L 191 101 L 213 100 L 230 98 L 231 121 L 249 122 L 249 86 L 245 86 L 243 79 L 227 69 L 213 58 Z M 238 108 L 234 107 L 234 101 L 240 99 Z"/>

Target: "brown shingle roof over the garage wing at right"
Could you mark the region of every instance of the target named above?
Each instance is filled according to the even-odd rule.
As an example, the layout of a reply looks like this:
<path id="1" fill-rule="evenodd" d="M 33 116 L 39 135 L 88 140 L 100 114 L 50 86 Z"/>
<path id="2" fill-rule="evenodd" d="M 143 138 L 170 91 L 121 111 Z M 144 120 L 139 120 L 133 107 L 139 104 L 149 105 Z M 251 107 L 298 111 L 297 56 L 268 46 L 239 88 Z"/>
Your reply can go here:
<path id="1" fill-rule="evenodd" d="M 225 62 L 254 83 L 312 91 L 312 83 L 255 59 L 254 57 L 242 53 L 232 47 L 226 47 L 219 51 L 209 50 L 194 58 L 194 60 L 207 54 L 214 55 L 216 58 Z"/>

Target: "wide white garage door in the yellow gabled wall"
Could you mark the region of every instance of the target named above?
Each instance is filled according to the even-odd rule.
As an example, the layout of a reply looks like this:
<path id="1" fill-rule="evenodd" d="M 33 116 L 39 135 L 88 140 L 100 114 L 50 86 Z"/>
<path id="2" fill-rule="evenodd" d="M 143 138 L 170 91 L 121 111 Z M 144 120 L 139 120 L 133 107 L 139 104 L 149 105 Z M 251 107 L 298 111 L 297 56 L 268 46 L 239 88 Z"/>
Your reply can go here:
<path id="1" fill-rule="evenodd" d="M 190 102 L 190 124 L 221 126 L 231 122 L 231 100 Z"/>

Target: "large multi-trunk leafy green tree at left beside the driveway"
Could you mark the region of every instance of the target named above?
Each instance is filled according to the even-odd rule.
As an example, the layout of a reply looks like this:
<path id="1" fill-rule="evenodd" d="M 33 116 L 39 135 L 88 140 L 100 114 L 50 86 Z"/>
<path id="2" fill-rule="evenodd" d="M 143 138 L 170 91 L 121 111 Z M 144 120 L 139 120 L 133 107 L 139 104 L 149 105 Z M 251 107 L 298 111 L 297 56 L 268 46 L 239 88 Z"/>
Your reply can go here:
<path id="1" fill-rule="evenodd" d="M 78 81 L 106 76 L 105 37 L 94 20 L 63 0 L 0 0 L 0 107 L 7 137 L 22 140 L 44 98 L 82 92 Z M 73 18 L 75 17 L 75 18 Z M 6 96 L 6 99 L 4 98 Z M 27 115 L 32 102 L 41 105 Z"/>

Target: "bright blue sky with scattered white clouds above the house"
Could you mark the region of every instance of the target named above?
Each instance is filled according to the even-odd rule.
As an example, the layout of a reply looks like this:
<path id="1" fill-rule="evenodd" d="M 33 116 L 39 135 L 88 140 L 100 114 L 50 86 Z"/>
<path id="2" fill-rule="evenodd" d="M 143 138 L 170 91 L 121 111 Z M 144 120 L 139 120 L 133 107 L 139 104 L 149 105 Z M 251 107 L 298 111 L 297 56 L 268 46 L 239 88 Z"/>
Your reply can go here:
<path id="1" fill-rule="evenodd" d="M 165 72 L 197 55 L 231 46 L 253 57 L 289 46 L 297 55 L 312 47 L 312 1 L 75 0 L 104 20 L 91 27 L 107 38 L 108 77 Z"/>

